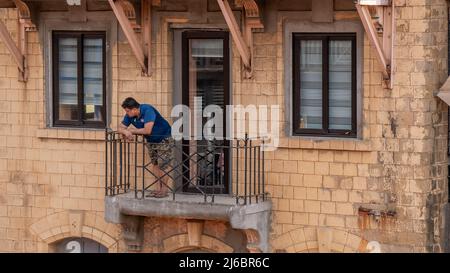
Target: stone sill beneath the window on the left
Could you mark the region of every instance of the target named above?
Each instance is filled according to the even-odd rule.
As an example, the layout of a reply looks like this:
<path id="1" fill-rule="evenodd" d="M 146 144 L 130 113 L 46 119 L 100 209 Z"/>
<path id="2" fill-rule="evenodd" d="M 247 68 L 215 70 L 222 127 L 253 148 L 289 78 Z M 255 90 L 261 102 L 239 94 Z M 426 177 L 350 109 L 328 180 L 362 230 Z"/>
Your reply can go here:
<path id="1" fill-rule="evenodd" d="M 105 130 L 86 128 L 41 128 L 37 130 L 37 137 L 42 139 L 103 141 L 105 140 Z"/>

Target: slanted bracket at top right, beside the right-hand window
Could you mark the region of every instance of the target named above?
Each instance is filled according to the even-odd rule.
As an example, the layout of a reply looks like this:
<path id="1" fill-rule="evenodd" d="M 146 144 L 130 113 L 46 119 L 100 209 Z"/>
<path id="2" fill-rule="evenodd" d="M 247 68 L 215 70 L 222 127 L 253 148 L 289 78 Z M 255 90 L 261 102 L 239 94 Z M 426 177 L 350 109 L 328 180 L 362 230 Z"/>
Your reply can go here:
<path id="1" fill-rule="evenodd" d="M 394 1 L 358 0 L 355 6 L 370 43 L 376 49 L 376 57 L 378 62 L 383 67 L 383 80 L 385 82 L 385 87 L 392 89 L 394 82 Z M 379 37 L 380 35 L 382 36 L 381 41 Z"/>

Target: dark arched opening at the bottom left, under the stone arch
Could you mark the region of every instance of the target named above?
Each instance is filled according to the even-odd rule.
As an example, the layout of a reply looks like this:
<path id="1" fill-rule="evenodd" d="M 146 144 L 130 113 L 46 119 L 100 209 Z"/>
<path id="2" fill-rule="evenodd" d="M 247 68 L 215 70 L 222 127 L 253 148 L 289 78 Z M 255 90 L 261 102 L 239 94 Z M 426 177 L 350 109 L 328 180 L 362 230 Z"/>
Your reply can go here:
<path id="1" fill-rule="evenodd" d="M 50 246 L 56 253 L 108 253 L 104 245 L 84 237 L 71 237 L 57 241 Z"/>

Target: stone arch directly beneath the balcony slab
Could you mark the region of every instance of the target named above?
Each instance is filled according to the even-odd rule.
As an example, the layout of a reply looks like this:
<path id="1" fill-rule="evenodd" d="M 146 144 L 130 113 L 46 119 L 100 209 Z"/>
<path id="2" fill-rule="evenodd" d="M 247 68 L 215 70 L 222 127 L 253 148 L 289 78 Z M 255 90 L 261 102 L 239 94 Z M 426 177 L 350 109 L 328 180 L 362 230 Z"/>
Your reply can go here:
<path id="1" fill-rule="evenodd" d="M 163 240 L 163 252 L 174 253 L 191 249 L 203 249 L 209 252 L 232 253 L 233 248 L 224 242 L 208 236 L 201 235 L 200 240 L 189 240 L 188 234 L 178 234 Z"/>

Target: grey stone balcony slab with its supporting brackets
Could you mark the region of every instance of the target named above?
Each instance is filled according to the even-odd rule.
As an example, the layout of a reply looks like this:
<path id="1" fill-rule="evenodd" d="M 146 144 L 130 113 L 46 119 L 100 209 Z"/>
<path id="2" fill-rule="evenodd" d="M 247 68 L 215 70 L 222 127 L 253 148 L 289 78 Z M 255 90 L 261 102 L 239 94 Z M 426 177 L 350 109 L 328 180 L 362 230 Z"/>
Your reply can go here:
<path id="1" fill-rule="evenodd" d="M 142 217 L 228 221 L 232 228 L 257 232 L 259 240 L 248 244 L 248 248 L 257 247 L 262 252 L 269 252 L 271 201 L 236 205 L 235 200 L 233 197 L 216 196 L 215 203 L 204 203 L 203 196 L 188 194 L 177 194 L 177 200 L 171 197 L 136 199 L 134 192 L 130 192 L 105 197 L 105 220 L 133 226 L 136 233 L 141 233 L 136 223 L 142 222 L 138 220 Z M 128 235 L 133 238 L 138 236 L 142 235 Z"/>

